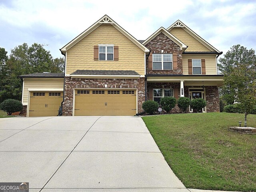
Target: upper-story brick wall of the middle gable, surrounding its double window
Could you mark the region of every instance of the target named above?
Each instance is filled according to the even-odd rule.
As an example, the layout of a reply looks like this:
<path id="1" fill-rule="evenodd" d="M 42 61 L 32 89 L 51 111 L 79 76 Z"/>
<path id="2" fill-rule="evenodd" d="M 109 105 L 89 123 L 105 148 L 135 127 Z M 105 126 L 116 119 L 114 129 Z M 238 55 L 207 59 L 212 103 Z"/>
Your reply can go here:
<path id="1" fill-rule="evenodd" d="M 180 46 L 170 40 L 163 33 L 158 34 L 154 39 L 152 39 L 146 47 L 152 53 L 162 53 L 161 50 L 164 50 L 164 53 L 177 53 L 177 70 L 149 70 L 148 69 L 148 60 L 146 61 L 146 74 L 182 74 L 182 50 Z"/>

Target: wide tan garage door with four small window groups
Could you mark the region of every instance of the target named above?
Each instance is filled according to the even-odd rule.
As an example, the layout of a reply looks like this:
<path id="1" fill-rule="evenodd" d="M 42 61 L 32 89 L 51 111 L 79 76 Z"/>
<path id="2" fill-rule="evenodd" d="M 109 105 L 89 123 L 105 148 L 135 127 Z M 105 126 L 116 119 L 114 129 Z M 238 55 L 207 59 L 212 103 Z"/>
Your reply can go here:
<path id="1" fill-rule="evenodd" d="M 76 90 L 75 92 L 75 116 L 136 114 L 136 90 Z"/>

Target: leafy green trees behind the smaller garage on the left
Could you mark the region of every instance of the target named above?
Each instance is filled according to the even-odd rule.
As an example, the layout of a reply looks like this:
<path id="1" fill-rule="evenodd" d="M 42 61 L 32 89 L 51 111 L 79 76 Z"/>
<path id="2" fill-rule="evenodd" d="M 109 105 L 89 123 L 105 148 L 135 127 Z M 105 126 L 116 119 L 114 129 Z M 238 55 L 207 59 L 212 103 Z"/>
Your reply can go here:
<path id="1" fill-rule="evenodd" d="M 4 64 L 3 64 L 4 63 Z M 52 58 L 44 45 L 24 43 L 11 50 L 9 57 L 4 48 L 0 48 L 0 102 L 7 98 L 20 100 L 22 82 L 17 76 L 37 73 L 64 71 L 64 58 Z"/>

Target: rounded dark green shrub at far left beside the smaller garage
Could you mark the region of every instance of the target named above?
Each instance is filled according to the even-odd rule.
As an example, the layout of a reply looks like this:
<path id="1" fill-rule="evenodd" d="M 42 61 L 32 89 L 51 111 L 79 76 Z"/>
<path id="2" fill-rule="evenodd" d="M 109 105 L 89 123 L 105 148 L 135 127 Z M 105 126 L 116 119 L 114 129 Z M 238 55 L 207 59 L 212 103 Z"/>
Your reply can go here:
<path id="1" fill-rule="evenodd" d="M 0 104 L 0 110 L 7 112 L 8 115 L 12 115 L 12 113 L 21 111 L 22 109 L 22 103 L 15 99 L 6 99 Z"/>

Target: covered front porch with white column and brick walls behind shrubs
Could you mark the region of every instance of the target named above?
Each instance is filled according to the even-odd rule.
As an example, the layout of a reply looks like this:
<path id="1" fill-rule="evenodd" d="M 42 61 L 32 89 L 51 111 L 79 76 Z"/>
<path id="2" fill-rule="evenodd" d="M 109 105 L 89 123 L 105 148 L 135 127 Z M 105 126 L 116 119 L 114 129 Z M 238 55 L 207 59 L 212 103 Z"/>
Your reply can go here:
<path id="1" fill-rule="evenodd" d="M 222 75 L 146 75 L 147 100 L 160 102 L 164 96 L 203 98 L 206 107 L 200 112 L 220 112 L 218 88 L 223 85 Z M 178 113 L 176 105 L 171 113 Z M 189 108 L 188 112 L 196 112 Z"/>

